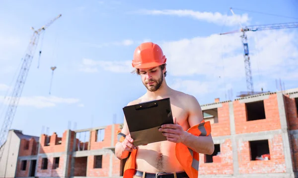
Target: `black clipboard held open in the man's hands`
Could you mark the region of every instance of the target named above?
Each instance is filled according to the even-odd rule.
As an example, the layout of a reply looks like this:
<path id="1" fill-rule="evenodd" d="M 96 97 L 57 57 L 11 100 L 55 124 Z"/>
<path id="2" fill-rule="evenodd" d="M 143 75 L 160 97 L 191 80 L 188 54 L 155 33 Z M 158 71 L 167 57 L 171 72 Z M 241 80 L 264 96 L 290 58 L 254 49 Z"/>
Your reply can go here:
<path id="1" fill-rule="evenodd" d="M 135 146 L 167 140 L 158 129 L 174 124 L 170 98 L 125 106 L 123 112 Z"/>

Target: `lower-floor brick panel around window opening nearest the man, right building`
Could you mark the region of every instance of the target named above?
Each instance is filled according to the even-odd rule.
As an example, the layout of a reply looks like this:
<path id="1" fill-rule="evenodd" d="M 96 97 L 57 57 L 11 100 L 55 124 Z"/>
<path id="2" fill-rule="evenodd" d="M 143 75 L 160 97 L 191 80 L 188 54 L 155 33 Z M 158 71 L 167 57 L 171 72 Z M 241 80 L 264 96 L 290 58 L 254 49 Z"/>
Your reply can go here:
<path id="1" fill-rule="evenodd" d="M 200 154 L 199 174 L 232 174 L 233 173 L 233 158 L 232 158 L 232 145 L 231 140 L 226 139 L 221 144 L 220 163 L 204 163 L 205 155 Z"/>

